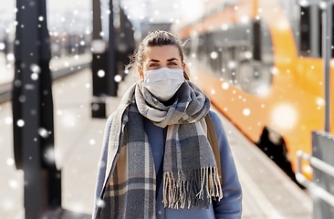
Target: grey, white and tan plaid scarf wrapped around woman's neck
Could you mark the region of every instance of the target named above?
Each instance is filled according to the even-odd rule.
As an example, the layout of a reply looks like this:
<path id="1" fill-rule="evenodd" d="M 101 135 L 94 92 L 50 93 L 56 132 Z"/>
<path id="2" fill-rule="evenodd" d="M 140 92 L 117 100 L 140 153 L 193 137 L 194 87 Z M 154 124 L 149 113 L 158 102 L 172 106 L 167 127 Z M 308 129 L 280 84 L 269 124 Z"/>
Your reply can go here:
<path id="1" fill-rule="evenodd" d="M 151 145 L 143 117 L 167 127 L 163 158 L 165 207 L 209 208 L 223 197 L 214 152 L 200 120 L 210 100 L 192 82 L 176 92 L 176 101 L 164 106 L 139 81 L 120 101 L 112 121 L 104 187 L 96 218 L 155 218 L 156 176 Z"/>

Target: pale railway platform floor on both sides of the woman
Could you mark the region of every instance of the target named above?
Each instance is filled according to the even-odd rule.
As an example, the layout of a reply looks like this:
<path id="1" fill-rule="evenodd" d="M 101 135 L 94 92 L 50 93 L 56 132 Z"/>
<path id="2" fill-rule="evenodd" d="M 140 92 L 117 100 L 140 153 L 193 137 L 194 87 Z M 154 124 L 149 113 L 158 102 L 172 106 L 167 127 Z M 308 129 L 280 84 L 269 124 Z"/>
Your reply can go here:
<path id="1" fill-rule="evenodd" d="M 120 82 L 117 98 L 107 99 L 107 114 L 116 110 L 133 73 Z M 55 152 L 62 170 L 62 208 L 55 218 L 89 219 L 93 209 L 99 155 L 106 120 L 92 119 L 89 68 L 53 84 Z M 215 110 L 213 108 L 213 110 Z M 243 187 L 243 219 L 311 219 L 312 200 L 224 115 L 224 124 Z M 10 101 L 0 104 L 0 218 L 24 218 L 23 172 L 14 164 Z"/>

